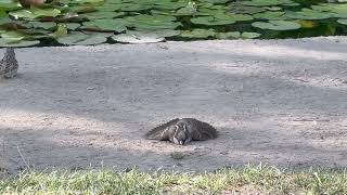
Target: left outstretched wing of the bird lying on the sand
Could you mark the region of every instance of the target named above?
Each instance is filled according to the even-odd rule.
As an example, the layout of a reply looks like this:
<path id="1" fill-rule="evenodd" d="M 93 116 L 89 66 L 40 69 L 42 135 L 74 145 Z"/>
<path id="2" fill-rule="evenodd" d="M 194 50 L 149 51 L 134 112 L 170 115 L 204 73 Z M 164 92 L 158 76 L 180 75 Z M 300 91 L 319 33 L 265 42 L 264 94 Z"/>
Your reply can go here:
<path id="1" fill-rule="evenodd" d="M 149 140 L 169 140 L 170 133 L 168 132 L 172 126 L 175 126 L 180 119 L 175 118 L 166 123 L 163 123 L 145 135 Z"/>

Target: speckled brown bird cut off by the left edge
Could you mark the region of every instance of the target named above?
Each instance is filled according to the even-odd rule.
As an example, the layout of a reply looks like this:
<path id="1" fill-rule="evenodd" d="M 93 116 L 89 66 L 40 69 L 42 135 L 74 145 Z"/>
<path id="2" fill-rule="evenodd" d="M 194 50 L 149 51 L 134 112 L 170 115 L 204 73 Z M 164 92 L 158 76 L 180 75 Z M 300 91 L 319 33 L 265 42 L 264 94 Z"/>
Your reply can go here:
<path id="1" fill-rule="evenodd" d="M 0 77 L 5 79 L 13 78 L 17 75 L 18 62 L 15 58 L 13 48 L 7 48 L 4 56 L 0 61 Z"/>

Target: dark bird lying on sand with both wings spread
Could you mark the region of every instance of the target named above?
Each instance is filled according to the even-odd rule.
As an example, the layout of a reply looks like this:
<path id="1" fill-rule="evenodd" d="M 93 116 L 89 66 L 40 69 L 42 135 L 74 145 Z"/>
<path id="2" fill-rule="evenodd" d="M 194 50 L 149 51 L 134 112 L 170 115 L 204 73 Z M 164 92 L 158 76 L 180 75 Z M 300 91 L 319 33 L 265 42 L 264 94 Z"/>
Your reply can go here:
<path id="1" fill-rule="evenodd" d="M 150 130 L 145 135 L 149 140 L 170 141 L 185 145 L 191 141 L 215 139 L 217 130 L 209 123 L 195 118 L 175 118 Z"/>

